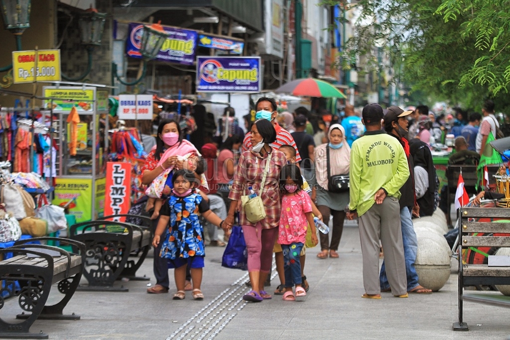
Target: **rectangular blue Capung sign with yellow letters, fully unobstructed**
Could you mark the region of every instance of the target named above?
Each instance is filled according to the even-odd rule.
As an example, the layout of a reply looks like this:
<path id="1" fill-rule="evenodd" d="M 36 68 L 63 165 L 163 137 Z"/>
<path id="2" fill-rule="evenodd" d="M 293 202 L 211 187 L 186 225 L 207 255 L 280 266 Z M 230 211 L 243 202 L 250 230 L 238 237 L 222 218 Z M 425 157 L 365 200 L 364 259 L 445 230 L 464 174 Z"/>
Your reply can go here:
<path id="1" fill-rule="evenodd" d="M 196 92 L 262 91 L 260 57 L 197 57 Z"/>

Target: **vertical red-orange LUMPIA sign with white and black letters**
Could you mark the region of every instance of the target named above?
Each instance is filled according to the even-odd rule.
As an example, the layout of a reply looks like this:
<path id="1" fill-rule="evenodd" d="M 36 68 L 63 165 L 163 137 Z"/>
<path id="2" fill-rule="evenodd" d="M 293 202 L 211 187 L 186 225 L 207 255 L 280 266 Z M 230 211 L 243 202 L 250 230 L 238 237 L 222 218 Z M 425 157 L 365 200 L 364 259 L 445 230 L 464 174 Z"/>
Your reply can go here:
<path id="1" fill-rule="evenodd" d="M 131 205 L 131 164 L 108 162 L 106 173 L 105 216 L 127 214 Z"/>

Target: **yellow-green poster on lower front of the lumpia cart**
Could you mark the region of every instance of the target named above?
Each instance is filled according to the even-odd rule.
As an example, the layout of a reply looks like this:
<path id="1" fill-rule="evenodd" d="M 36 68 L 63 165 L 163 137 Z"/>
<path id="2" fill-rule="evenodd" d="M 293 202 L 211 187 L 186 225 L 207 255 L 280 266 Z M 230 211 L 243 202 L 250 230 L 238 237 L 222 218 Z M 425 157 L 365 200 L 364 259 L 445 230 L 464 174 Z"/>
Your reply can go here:
<path id="1" fill-rule="evenodd" d="M 69 203 L 69 214 L 76 217 L 76 222 L 92 220 L 91 202 L 92 179 L 55 178 L 55 199 L 52 204 L 64 206 Z"/>

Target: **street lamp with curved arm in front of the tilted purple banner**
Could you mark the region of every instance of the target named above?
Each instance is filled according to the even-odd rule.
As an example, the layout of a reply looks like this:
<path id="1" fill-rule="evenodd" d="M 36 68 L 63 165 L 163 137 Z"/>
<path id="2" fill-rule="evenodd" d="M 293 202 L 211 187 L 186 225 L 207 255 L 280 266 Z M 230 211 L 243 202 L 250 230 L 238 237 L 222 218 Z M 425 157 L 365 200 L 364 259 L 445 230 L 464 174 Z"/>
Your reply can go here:
<path id="1" fill-rule="evenodd" d="M 142 37 L 140 39 L 140 54 L 143 56 L 143 69 L 140 77 L 133 82 L 124 82 L 117 74 L 117 64 L 112 63 L 112 85 L 114 85 L 114 77 L 125 86 L 138 84 L 147 72 L 147 61 L 156 58 L 161 50 L 163 43 L 168 38 L 168 33 L 163 29 L 161 21 L 153 23 L 150 26 L 143 25 Z"/>

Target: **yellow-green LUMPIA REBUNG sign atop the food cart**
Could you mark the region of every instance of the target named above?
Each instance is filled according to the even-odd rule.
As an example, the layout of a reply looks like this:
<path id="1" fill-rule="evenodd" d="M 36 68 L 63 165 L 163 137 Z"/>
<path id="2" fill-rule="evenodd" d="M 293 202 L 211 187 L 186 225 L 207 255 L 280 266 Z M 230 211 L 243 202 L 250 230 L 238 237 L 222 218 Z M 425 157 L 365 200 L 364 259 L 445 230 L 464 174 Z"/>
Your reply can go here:
<path id="1" fill-rule="evenodd" d="M 45 100 L 44 106 L 53 111 L 71 111 L 76 106 L 78 111 L 92 111 L 94 108 L 94 90 L 77 89 L 44 89 L 44 97 L 55 98 Z"/>

